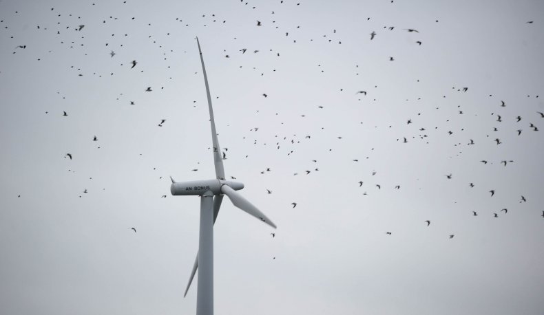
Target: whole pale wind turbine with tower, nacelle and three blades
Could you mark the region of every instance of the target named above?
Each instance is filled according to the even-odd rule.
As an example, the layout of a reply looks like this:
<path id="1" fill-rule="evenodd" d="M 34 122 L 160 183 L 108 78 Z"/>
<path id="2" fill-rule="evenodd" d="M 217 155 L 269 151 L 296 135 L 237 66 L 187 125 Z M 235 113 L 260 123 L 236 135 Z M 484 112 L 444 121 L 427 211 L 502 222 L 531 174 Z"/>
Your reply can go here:
<path id="1" fill-rule="evenodd" d="M 184 297 L 191 286 L 193 277 L 198 269 L 198 283 L 196 291 L 196 314 L 213 315 L 213 224 L 216 223 L 219 208 L 223 195 L 227 195 L 234 206 L 244 210 L 263 221 L 264 223 L 276 228 L 275 224 L 260 212 L 260 210 L 248 202 L 242 195 L 237 193 L 244 188 L 244 184 L 224 179 L 223 160 L 216 133 L 216 123 L 213 119 L 213 109 L 211 108 L 211 97 L 209 93 L 208 78 L 202 58 L 202 50 L 198 37 L 196 38 L 198 52 L 200 53 L 200 63 L 202 63 L 202 73 L 204 74 L 204 83 L 206 85 L 206 95 L 208 97 L 209 118 L 211 124 L 211 141 L 213 143 L 213 163 L 216 167 L 215 180 L 195 180 L 191 182 L 176 182 L 172 177 L 170 180 L 170 192 L 172 195 L 198 195 L 200 196 L 200 232 L 198 237 L 198 253 Z"/>

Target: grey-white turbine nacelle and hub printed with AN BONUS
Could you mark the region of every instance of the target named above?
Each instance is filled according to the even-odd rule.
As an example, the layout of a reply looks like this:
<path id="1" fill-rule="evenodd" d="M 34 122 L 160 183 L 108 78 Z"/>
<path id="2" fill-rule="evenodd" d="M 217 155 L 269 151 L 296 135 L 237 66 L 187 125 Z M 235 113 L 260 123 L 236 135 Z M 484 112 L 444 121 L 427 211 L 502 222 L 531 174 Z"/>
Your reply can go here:
<path id="1" fill-rule="evenodd" d="M 227 185 L 235 191 L 244 188 L 244 184 L 230 180 L 191 180 L 189 182 L 173 182 L 170 185 L 170 193 L 174 196 L 201 196 L 205 192 L 211 191 L 213 195 L 222 195 L 221 186 L 223 185 Z"/>

